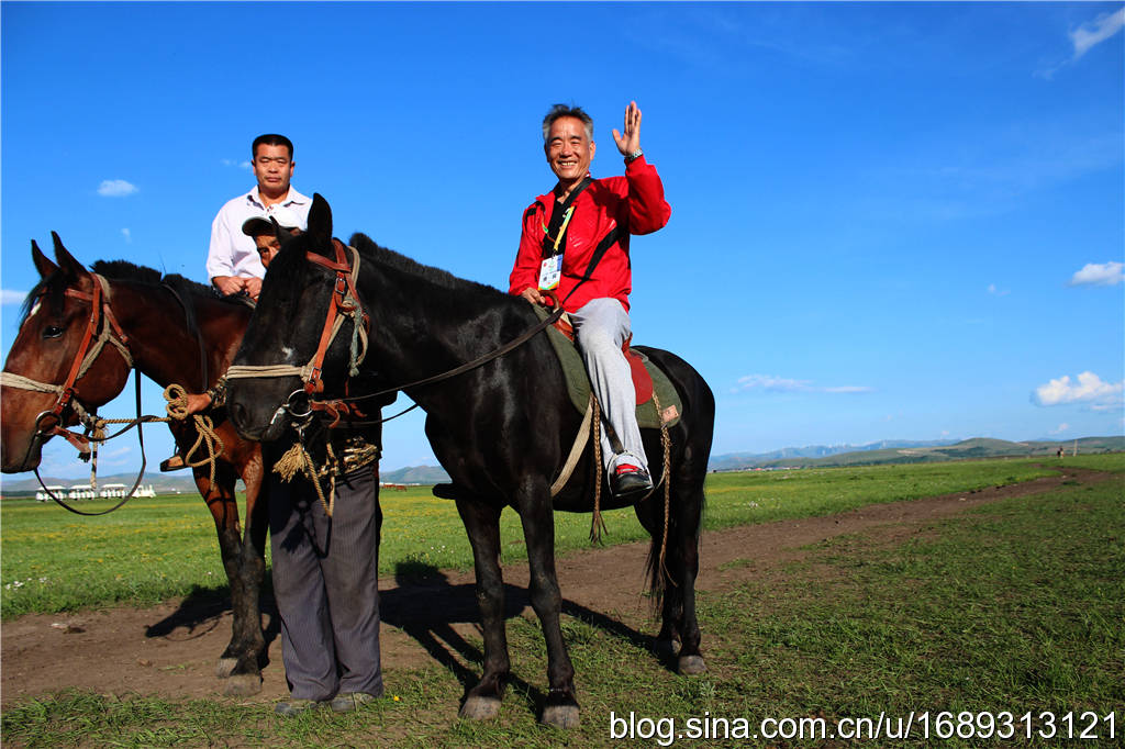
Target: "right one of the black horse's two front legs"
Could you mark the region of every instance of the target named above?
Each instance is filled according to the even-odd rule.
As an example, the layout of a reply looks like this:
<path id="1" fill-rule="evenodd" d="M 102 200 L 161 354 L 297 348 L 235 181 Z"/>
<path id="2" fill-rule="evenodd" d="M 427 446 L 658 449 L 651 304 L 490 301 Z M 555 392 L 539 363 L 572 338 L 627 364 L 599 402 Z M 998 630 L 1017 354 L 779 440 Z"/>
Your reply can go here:
<path id="1" fill-rule="evenodd" d="M 578 701 L 574 694 L 574 666 L 560 626 L 562 596 L 555 571 L 555 517 L 546 485 L 528 496 L 538 497 L 538 500 L 523 504 L 520 522 L 528 544 L 531 606 L 539 616 L 547 641 L 547 680 L 550 685 L 540 722 L 560 729 L 575 728 L 578 725 Z"/>

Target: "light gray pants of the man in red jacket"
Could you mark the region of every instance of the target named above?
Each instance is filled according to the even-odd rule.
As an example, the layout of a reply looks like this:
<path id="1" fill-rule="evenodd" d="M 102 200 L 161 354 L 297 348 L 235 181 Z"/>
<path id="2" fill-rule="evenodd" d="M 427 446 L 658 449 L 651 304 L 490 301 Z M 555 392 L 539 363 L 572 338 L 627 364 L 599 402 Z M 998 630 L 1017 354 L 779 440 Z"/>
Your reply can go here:
<path id="1" fill-rule="evenodd" d="M 637 390 L 633 388 L 629 362 L 621 345 L 629 337 L 629 313 L 612 297 L 591 299 L 570 313 L 575 342 L 586 362 L 594 396 L 602 405 L 602 419 L 609 422 L 621 440 L 624 452 L 613 454 L 610 439 L 602 430 L 602 462 L 612 471 L 619 462 L 648 470 L 645 445 L 637 426 Z"/>

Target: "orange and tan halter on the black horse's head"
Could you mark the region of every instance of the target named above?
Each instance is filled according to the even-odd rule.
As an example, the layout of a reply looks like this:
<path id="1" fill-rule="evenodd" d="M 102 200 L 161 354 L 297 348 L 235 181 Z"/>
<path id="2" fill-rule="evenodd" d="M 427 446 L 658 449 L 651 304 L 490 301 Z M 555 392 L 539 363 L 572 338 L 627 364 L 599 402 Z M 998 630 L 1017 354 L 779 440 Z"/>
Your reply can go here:
<path id="1" fill-rule="evenodd" d="M 344 318 L 352 319 L 351 357 L 348 373 L 354 377 L 359 373 L 359 366 L 367 358 L 367 337 L 370 318 L 359 303 L 359 294 L 356 291 L 356 279 L 359 278 L 360 255 L 356 247 L 348 246 L 351 251 L 352 263 L 348 263 L 344 254 L 344 245 L 339 240 L 332 240 L 335 250 L 335 261 L 328 260 L 324 255 L 315 252 L 306 252 L 305 258 L 312 263 L 327 268 L 336 274 L 336 280 L 332 288 L 332 300 L 328 304 L 328 314 L 324 319 L 324 327 L 321 330 L 321 340 L 316 346 L 316 353 L 304 367 L 295 364 L 237 364 L 226 370 L 226 378 L 248 379 L 258 377 L 299 377 L 304 383 L 302 390 L 294 391 L 289 396 L 290 400 L 295 395 L 304 392 L 312 396 L 314 392 L 324 391 L 324 355 L 335 340 Z"/>

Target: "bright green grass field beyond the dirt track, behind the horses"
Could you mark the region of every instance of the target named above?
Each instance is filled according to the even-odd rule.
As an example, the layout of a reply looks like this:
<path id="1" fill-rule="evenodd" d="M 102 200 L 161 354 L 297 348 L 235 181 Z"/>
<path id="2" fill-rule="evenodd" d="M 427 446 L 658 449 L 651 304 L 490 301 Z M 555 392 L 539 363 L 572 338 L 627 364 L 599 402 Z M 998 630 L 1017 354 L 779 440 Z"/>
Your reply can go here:
<path id="1" fill-rule="evenodd" d="M 1112 464 L 1114 455 L 1091 455 Z M 1036 460 L 990 460 L 926 466 L 876 466 L 801 471 L 713 473 L 708 479 L 704 527 L 764 523 L 843 512 L 866 504 L 972 491 L 1014 484 L 1051 471 Z M 1125 462 L 1125 461 L 1123 461 Z M 429 488 L 385 490 L 381 574 L 412 568 L 470 569 L 468 539 L 451 502 Z M 83 507 L 109 506 L 94 500 Z M 556 516 L 559 553 L 590 545 L 588 514 Z M 53 503 L 7 500 L 3 526 L 0 613 L 76 611 L 122 603 L 151 605 L 200 590 L 222 595 L 226 576 L 214 523 L 191 495 L 134 499 L 101 517 L 79 517 Z M 646 539 L 632 509 L 605 513 L 604 543 Z M 526 559 L 523 532 L 504 512 L 505 561 Z"/>

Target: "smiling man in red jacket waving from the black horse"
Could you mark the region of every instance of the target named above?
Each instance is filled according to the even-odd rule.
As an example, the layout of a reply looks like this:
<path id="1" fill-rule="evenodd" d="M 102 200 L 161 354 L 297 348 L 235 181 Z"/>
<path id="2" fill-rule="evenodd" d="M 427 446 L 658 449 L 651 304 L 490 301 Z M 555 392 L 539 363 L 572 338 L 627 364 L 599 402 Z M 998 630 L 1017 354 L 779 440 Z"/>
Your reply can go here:
<path id="1" fill-rule="evenodd" d="M 602 431 L 610 486 L 615 496 L 627 496 L 652 488 L 637 426 L 637 396 L 621 351 L 631 335 L 629 236 L 662 228 L 672 208 L 656 168 L 640 148 L 636 101 L 626 108 L 624 132 L 614 129 L 613 139 L 624 156 L 626 174 L 595 180 L 590 175 L 595 151 L 590 115 L 580 107 L 555 105 L 543 118 L 543 153 L 558 183 L 523 213 L 508 292 L 548 305 L 542 292 L 554 290 L 570 314 L 594 395 L 623 446 L 613 450 Z"/>

